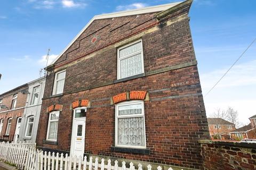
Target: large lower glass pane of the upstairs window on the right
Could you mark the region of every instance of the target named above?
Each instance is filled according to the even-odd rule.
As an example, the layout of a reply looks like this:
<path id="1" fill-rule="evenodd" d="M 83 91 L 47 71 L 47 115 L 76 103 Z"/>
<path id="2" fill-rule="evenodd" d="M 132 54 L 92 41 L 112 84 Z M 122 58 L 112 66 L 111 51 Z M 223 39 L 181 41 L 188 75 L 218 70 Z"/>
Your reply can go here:
<path id="1" fill-rule="evenodd" d="M 141 53 L 120 61 L 121 78 L 142 73 Z"/>

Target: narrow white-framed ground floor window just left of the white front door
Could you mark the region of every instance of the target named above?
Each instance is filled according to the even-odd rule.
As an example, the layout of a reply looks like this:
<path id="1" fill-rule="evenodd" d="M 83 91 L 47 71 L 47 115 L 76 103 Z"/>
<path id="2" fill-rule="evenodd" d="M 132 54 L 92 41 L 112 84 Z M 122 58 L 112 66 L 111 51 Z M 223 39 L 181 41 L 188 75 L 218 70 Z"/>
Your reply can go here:
<path id="1" fill-rule="evenodd" d="M 58 112 L 54 111 L 49 114 L 46 140 L 57 141 L 59 115 L 60 115 L 59 111 Z"/>

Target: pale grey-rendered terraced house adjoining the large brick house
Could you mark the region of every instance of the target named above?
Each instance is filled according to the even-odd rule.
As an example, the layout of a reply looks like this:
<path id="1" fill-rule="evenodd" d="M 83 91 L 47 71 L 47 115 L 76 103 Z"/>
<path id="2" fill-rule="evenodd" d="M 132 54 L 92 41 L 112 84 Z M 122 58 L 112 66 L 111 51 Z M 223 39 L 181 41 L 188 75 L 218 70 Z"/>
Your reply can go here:
<path id="1" fill-rule="evenodd" d="M 36 142 L 44 86 L 44 77 L 28 83 L 28 96 L 21 119 L 19 141 Z"/>

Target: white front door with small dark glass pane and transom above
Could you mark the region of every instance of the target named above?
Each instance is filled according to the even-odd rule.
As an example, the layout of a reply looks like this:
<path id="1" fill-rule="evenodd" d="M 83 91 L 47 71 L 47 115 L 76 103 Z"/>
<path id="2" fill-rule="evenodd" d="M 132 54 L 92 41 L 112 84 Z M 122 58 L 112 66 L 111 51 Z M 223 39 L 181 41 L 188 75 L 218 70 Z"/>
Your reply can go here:
<path id="1" fill-rule="evenodd" d="M 86 108 L 74 110 L 70 152 L 72 156 L 84 155 Z"/>

